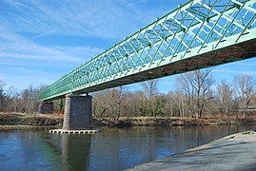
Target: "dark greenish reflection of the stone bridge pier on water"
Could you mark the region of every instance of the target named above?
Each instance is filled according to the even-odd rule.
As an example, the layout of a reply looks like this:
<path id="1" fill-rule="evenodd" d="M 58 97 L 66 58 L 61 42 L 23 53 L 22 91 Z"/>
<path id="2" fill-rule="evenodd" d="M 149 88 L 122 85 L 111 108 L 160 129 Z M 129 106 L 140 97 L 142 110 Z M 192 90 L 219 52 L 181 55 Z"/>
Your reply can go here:
<path id="1" fill-rule="evenodd" d="M 91 135 L 42 134 L 39 144 L 49 159 L 49 170 L 87 170 Z"/>

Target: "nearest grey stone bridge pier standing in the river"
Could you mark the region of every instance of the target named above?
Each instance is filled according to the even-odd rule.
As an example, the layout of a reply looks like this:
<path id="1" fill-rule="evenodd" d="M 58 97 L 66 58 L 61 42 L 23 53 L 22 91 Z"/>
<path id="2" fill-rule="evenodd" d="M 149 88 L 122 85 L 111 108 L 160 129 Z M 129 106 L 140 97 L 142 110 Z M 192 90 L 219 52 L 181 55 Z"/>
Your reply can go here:
<path id="1" fill-rule="evenodd" d="M 92 128 L 91 99 L 87 96 L 66 95 L 63 130 L 85 130 Z"/>

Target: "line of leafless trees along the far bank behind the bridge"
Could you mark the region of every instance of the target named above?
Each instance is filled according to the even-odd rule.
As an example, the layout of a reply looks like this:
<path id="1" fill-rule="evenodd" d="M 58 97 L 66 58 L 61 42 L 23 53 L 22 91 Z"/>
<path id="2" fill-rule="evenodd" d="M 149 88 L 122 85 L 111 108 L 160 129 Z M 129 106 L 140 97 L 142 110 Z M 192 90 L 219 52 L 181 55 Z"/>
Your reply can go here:
<path id="1" fill-rule="evenodd" d="M 209 115 L 247 115 L 256 108 L 256 80 L 250 75 L 234 76 L 231 83 L 216 83 L 212 68 L 181 74 L 167 93 L 158 89 L 159 80 L 141 83 L 141 90 L 123 86 L 92 93 L 92 115 L 96 118 L 190 117 Z M 18 91 L 0 81 L 0 112 L 36 113 L 38 93 L 46 85 Z M 54 102 L 56 111 L 64 110 L 65 101 Z"/>

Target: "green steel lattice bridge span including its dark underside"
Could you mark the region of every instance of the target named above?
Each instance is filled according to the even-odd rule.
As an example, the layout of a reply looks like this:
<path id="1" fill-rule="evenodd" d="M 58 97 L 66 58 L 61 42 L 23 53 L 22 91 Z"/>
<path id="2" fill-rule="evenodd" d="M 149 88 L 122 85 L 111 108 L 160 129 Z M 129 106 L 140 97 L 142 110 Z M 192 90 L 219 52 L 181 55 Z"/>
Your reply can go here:
<path id="1" fill-rule="evenodd" d="M 39 101 L 256 56 L 256 0 L 193 0 L 140 28 L 40 93 Z"/>

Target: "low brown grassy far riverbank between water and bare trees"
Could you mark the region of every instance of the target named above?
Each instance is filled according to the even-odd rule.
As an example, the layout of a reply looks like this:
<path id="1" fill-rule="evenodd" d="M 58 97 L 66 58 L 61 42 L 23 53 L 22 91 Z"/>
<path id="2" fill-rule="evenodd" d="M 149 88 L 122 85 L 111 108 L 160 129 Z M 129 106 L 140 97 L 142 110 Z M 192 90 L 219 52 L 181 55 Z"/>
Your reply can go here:
<path id="1" fill-rule="evenodd" d="M 63 115 L 59 114 L 23 114 L 23 113 L 0 113 L 0 129 L 8 129 L 14 125 L 22 129 L 28 126 L 55 126 L 60 128 L 63 123 Z M 202 125 L 246 125 L 256 124 L 256 119 L 193 119 L 178 117 L 121 117 L 119 120 L 111 118 L 94 118 L 95 126 L 128 127 L 128 126 L 202 126 Z M 10 126 L 11 125 L 11 126 Z"/>

